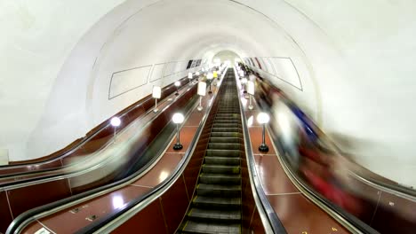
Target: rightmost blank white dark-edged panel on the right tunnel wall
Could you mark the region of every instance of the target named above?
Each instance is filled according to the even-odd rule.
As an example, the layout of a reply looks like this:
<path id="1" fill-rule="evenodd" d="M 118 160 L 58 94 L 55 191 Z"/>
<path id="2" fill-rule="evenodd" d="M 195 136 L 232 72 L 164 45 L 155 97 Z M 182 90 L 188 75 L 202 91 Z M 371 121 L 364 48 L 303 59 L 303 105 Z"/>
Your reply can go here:
<path id="1" fill-rule="evenodd" d="M 276 77 L 295 88 L 302 90 L 302 84 L 291 58 L 270 58 L 276 71 Z"/>

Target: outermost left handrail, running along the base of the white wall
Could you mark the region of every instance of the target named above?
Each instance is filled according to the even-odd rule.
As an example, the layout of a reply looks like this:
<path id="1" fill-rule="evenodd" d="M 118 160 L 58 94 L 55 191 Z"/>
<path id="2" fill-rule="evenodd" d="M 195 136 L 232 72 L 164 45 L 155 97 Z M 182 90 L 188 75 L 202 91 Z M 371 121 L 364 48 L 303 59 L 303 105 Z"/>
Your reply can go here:
<path id="1" fill-rule="evenodd" d="M 180 80 L 185 80 L 185 81 L 187 81 L 188 80 L 188 78 L 187 77 L 183 77 L 183 78 L 181 78 Z M 167 88 L 169 88 L 169 87 L 171 87 L 173 85 L 173 83 L 171 83 L 171 84 L 169 84 L 169 85 L 167 85 L 167 86 L 165 86 L 165 88 L 167 89 Z M 172 92 L 174 92 L 174 90 L 172 91 Z M 167 97 L 167 96 L 166 96 Z M 147 98 L 143 98 L 141 101 L 140 101 L 140 103 L 139 104 L 137 104 L 137 105 L 133 105 L 133 106 L 129 106 L 129 107 L 127 107 L 128 109 L 127 110 L 125 110 L 124 111 L 124 113 L 122 113 L 119 117 L 123 117 L 125 114 L 127 114 L 127 113 L 130 113 L 130 112 L 132 112 L 132 110 L 135 110 L 136 108 L 138 108 L 138 107 L 140 107 L 141 105 L 143 105 L 144 103 L 146 103 L 148 100 L 150 100 L 150 99 L 152 99 L 152 97 L 151 97 L 151 95 L 148 95 L 148 97 Z M 147 114 L 147 113 L 150 113 L 151 112 L 151 109 L 149 109 L 146 113 L 143 113 L 143 114 Z M 68 156 L 68 154 L 71 154 L 72 152 L 75 152 L 77 149 L 79 149 L 80 147 L 82 147 L 86 142 L 88 142 L 92 137 L 94 137 L 94 136 L 97 136 L 99 133 L 100 133 L 100 131 L 102 130 L 102 129 L 106 129 L 106 128 L 108 128 L 108 126 L 110 126 L 110 123 L 109 123 L 109 121 L 107 120 L 107 121 L 103 121 L 103 123 L 104 122 L 108 122 L 107 124 L 105 124 L 105 125 L 103 125 L 102 127 L 100 127 L 100 129 L 96 129 L 95 130 L 95 132 L 94 133 L 92 133 L 92 135 L 90 135 L 90 136 L 83 136 L 82 137 L 82 140 L 79 142 L 79 143 L 77 143 L 77 144 L 75 144 L 75 145 L 73 145 L 73 147 L 71 147 L 70 149 L 68 149 L 68 150 L 66 150 L 66 151 L 64 151 L 64 152 L 61 152 L 60 153 L 60 155 L 57 155 L 56 157 L 53 157 L 53 158 L 49 158 L 49 159 L 46 159 L 46 160 L 40 160 L 40 161 L 36 161 L 36 162 L 28 162 L 28 163 L 17 163 L 17 164 L 12 164 L 12 165 L 0 165 L 0 170 L 1 169 L 8 169 L 8 168 L 21 168 L 21 167 L 28 167 L 28 166 L 30 166 L 30 165 L 41 165 L 41 164 L 45 164 L 45 163 L 48 163 L 48 162 L 51 162 L 51 161 L 54 161 L 54 160 L 60 160 L 60 159 L 62 159 L 62 158 L 65 158 L 66 156 Z M 102 124 L 102 123 L 101 123 Z M 100 124 L 100 125 L 101 125 Z M 99 125 L 99 126 L 100 126 Z M 46 156 L 47 157 L 47 156 Z M 28 171 L 27 173 L 30 173 L 31 171 Z M 37 172 L 37 171 L 36 171 Z M 24 174 L 25 172 L 23 172 L 23 174 Z M 8 174 L 7 174 L 8 175 Z M 1 175 L 0 175 L 1 176 Z"/>

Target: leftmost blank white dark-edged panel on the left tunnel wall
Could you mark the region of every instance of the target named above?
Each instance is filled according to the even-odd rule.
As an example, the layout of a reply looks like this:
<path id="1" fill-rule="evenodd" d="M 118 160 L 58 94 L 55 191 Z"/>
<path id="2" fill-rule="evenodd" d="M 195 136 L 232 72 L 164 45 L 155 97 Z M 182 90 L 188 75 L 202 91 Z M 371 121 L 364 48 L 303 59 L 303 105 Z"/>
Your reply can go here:
<path id="1" fill-rule="evenodd" d="M 111 76 L 108 99 L 116 98 L 119 95 L 146 84 L 151 67 L 141 66 L 114 73 Z"/>

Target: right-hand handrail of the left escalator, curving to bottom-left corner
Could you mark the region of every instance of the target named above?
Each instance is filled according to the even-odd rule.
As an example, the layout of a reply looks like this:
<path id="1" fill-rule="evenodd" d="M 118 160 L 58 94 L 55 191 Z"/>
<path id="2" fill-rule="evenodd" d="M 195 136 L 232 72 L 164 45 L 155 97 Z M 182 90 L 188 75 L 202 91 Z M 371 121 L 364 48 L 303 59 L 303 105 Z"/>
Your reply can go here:
<path id="1" fill-rule="evenodd" d="M 181 93 L 180 94 L 180 96 L 181 95 L 183 95 L 184 93 Z M 169 105 L 167 105 L 167 106 L 165 106 L 164 107 L 164 110 L 165 109 L 167 109 L 170 105 L 172 105 L 172 104 L 169 104 Z M 163 113 L 164 112 L 164 110 L 161 110 L 157 115 L 155 115 L 150 121 L 148 121 L 148 123 L 147 124 L 150 124 L 151 123 L 151 121 L 153 121 L 154 120 L 154 118 L 156 118 L 156 116 L 159 116 L 161 113 Z M 168 125 L 169 124 L 169 122 L 166 124 L 166 125 Z M 176 133 L 174 133 L 174 132 L 172 132 L 172 134 L 171 134 L 171 136 L 170 136 L 170 138 L 172 138 L 173 136 L 175 136 L 175 134 Z M 166 147 L 167 147 L 167 145 L 166 145 Z M 164 149 L 165 149 L 165 147 L 161 147 L 161 149 L 159 150 L 159 152 L 157 152 L 157 154 L 160 154 L 160 153 L 162 153 L 162 152 L 164 152 Z M 157 157 L 156 157 L 157 158 Z M 79 199 L 84 199 L 84 198 L 88 198 L 88 197 L 91 197 L 92 195 L 94 195 L 94 194 L 98 194 L 98 193 L 100 193 L 100 195 L 101 194 L 104 194 L 104 193 L 107 193 L 108 191 L 111 191 L 111 189 L 113 188 L 113 187 L 116 187 L 116 186 L 119 186 L 120 184 L 123 184 L 123 183 L 126 183 L 126 182 L 129 182 L 129 181 L 131 181 L 132 179 L 136 179 L 135 177 L 137 177 L 138 175 L 140 175 L 140 174 L 142 174 L 144 171 L 146 171 L 147 170 L 147 166 L 148 165 L 151 165 L 152 163 L 154 163 L 154 160 L 152 160 L 152 161 L 149 161 L 148 162 L 148 164 L 145 166 L 145 167 L 143 167 L 143 168 L 141 168 L 140 170 L 138 170 L 136 173 L 134 173 L 134 174 L 132 174 L 132 175 L 129 175 L 129 176 L 127 176 L 127 177 L 125 177 L 124 179 L 121 179 L 121 180 L 119 180 L 119 181 L 116 181 L 116 182 L 114 182 L 114 183 L 108 183 L 108 184 L 106 184 L 106 185 L 103 185 L 103 186 L 100 186 L 100 187 L 98 187 L 98 188 L 94 188 L 94 189 L 92 189 L 92 190 L 89 190 L 89 191 L 84 191 L 84 192 L 82 192 L 82 193 L 79 193 L 79 194 L 76 194 L 76 195 L 73 195 L 73 196 L 71 196 L 71 197 L 68 197 L 68 198 L 66 198 L 66 199 L 60 199 L 60 200 L 57 200 L 57 201 L 55 201 L 55 202 L 52 202 L 52 203 L 49 203 L 49 204 L 46 204 L 46 205 L 44 205 L 44 206 L 41 206 L 41 207 L 35 207 L 35 208 L 32 208 L 32 209 L 30 209 L 30 210 L 28 210 L 28 211 L 26 211 L 26 212 L 24 212 L 24 213 L 22 213 L 22 214 L 20 214 L 19 216 L 17 216 L 13 221 L 12 221 L 12 223 L 9 225 L 9 227 L 7 228 L 7 230 L 6 230 L 6 233 L 8 233 L 8 234 L 10 234 L 10 233 L 20 233 L 20 231 L 26 226 L 26 225 L 28 225 L 28 223 L 30 223 L 30 222 L 34 222 L 35 220 L 36 220 L 36 215 L 37 214 L 41 214 L 41 213 L 44 213 L 44 212 L 47 212 L 47 211 L 50 211 L 50 210 L 52 210 L 53 208 L 55 208 L 55 207 L 61 207 L 61 206 L 64 206 L 64 205 L 68 205 L 68 204 L 70 204 L 70 203 L 73 203 L 73 202 L 75 202 L 76 200 L 79 200 Z M 96 196 L 97 197 L 97 196 Z M 95 197 L 94 197 L 95 198 Z M 90 199 L 90 198 L 89 198 Z M 92 198 L 91 198 L 92 199 Z"/>

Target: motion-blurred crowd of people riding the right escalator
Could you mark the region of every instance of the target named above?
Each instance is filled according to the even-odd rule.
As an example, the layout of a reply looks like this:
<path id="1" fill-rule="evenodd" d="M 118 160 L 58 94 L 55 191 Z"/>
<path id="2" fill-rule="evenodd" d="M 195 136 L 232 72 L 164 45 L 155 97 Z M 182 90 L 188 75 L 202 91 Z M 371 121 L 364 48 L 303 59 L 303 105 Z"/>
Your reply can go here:
<path id="1" fill-rule="evenodd" d="M 243 64 L 240 66 L 247 74 L 254 74 Z M 358 178 L 372 178 L 384 184 L 397 183 L 372 173 L 340 152 L 284 91 L 260 75 L 249 77 L 260 79 L 256 99 L 260 108 L 271 115 L 269 125 L 276 136 L 274 141 L 280 148 L 281 159 L 302 183 L 334 207 L 353 214 L 380 233 L 415 233 L 415 210 L 397 210 L 392 202 L 380 202 L 380 191 Z M 415 202 L 414 197 L 413 200 L 396 198 L 396 201 Z"/>

